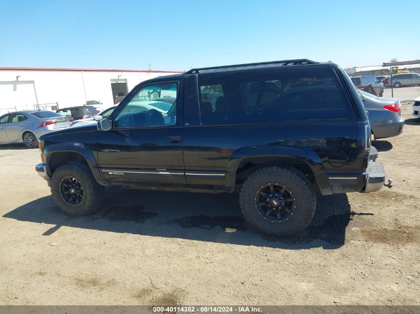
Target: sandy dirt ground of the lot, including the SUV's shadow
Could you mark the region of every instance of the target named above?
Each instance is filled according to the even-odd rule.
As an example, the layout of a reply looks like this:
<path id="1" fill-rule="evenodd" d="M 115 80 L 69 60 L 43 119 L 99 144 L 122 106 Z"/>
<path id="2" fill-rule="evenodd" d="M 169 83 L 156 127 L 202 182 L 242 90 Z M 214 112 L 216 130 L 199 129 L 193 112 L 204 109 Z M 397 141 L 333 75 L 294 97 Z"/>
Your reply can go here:
<path id="1" fill-rule="evenodd" d="M 250 230 L 236 194 L 107 190 L 58 212 L 38 150 L 0 146 L 0 304 L 419 305 L 420 119 L 374 145 L 395 187 L 320 196 L 298 238 Z"/>

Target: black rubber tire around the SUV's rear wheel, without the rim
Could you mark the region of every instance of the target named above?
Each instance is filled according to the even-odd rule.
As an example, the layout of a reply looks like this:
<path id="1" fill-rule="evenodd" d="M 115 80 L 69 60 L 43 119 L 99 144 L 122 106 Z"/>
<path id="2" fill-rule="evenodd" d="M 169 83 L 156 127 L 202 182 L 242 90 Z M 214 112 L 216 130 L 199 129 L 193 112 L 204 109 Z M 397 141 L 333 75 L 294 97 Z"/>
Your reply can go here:
<path id="1" fill-rule="evenodd" d="M 275 183 L 288 187 L 296 201 L 294 215 L 287 221 L 265 220 L 255 208 L 255 193 L 263 185 Z M 253 229 L 277 237 L 293 236 L 303 231 L 315 214 L 316 195 L 305 175 L 290 166 L 270 166 L 254 171 L 241 188 L 241 211 Z"/>

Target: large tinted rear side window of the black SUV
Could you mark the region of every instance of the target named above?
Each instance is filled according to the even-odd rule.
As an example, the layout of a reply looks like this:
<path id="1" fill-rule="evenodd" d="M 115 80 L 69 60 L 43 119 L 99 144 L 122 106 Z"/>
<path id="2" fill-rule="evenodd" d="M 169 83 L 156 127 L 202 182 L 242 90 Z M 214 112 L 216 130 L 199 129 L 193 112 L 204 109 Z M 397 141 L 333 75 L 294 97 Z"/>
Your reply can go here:
<path id="1" fill-rule="evenodd" d="M 203 125 L 354 119 L 329 65 L 198 75 Z"/>

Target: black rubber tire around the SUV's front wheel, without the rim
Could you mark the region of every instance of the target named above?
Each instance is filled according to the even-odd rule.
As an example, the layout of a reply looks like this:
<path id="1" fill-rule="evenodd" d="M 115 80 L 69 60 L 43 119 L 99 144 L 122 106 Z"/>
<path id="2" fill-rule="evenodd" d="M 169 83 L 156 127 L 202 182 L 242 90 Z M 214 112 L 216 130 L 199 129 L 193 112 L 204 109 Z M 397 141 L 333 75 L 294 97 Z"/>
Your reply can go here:
<path id="1" fill-rule="evenodd" d="M 62 181 L 72 176 L 84 189 L 84 198 L 78 205 L 66 202 L 61 194 Z M 89 167 L 81 162 L 72 161 L 59 166 L 53 173 L 51 193 L 55 204 L 69 216 L 85 216 L 99 209 L 104 199 L 104 187 L 100 186 L 92 175 Z"/>

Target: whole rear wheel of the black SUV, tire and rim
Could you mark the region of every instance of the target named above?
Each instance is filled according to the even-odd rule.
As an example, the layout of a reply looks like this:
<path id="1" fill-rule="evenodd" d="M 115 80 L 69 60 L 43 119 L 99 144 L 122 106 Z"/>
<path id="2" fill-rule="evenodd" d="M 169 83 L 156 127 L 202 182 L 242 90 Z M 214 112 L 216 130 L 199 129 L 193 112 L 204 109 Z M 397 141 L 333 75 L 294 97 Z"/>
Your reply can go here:
<path id="1" fill-rule="evenodd" d="M 241 211 L 253 229 L 270 236 L 291 236 L 304 230 L 316 208 L 311 183 L 290 166 L 253 172 L 240 192 Z"/>

